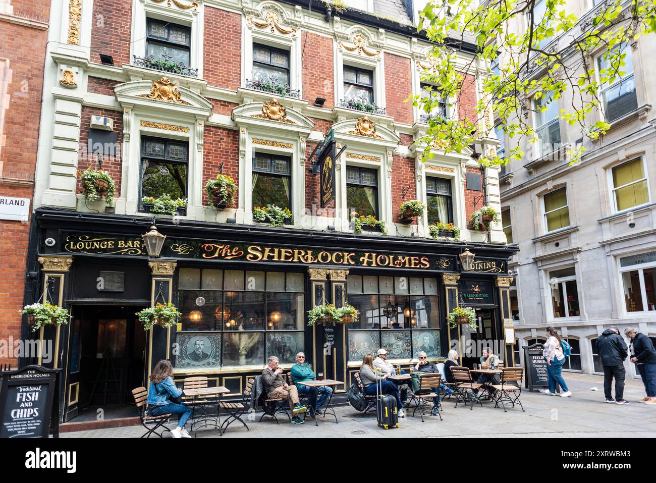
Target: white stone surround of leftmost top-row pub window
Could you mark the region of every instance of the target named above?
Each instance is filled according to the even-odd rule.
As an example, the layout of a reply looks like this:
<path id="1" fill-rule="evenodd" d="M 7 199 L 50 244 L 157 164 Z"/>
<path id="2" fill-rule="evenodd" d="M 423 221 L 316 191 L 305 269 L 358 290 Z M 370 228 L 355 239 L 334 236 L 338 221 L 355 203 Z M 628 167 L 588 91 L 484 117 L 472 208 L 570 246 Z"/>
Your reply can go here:
<path id="1" fill-rule="evenodd" d="M 130 47 L 130 64 L 134 56 L 146 56 L 146 39 L 148 37 L 147 20 L 163 20 L 191 28 L 190 38 L 190 65 L 198 69 L 198 78 L 203 78 L 203 2 L 195 0 L 199 5 L 197 10 L 180 9 L 174 3 L 167 7 L 167 2 L 155 3 L 152 0 L 134 0 L 132 14 L 132 43 Z M 182 3 L 185 3 L 186 0 Z M 190 3 L 190 2 L 189 2 Z M 157 60 L 157 59 L 155 59 Z M 169 73 L 164 73 L 169 74 Z M 175 75 L 175 74 L 173 74 Z"/>

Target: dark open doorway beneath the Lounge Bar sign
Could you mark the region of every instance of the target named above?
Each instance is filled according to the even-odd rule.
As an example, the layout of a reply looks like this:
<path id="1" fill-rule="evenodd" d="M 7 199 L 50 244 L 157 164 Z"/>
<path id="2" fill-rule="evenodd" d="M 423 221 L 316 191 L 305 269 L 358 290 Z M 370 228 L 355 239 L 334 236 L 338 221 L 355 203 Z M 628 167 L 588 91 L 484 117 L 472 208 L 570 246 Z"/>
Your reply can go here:
<path id="1" fill-rule="evenodd" d="M 142 306 L 75 305 L 64 421 L 136 415 L 132 390 L 144 385 Z"/>

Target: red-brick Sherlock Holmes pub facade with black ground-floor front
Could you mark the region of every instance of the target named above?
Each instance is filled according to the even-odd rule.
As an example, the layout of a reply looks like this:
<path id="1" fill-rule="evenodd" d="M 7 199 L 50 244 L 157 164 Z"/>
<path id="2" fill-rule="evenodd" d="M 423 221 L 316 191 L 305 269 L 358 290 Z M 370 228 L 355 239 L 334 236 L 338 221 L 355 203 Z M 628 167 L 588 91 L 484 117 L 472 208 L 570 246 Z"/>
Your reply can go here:
<path id="1" fill-rule="evenodd" d="M 113 16 L 92 22 L 106 5 L 82 3 L 77 18 L 75 0 L 60 3 L 78 28 L 60 22 L 50 33 L 56 68 L 41 119 L 50 148 L 39 151 L 25 303 L 71 314 L 36 332 L 52 361 L 30 361 L 62 369 L 64 421 L 125 405 L 163 358 L 176 383 L 207 375 L 228 398 L 268 356 L 289 368 L 300 350 L 317 373 L 344 381 L 342 393 L 380 347 L 405 367 L 420 350 L 438 360 L 449 348 L 470 365 L 477 343 L 512 359 L 515 249 L 499 224 L 468 222 L 483 205 L 499 211 L 498 170 L 481 167 L 476 150 L 435 146 L 422 161 L 427 113 L 404 101 L 431 90 L 422 79 L 433 45 L 416 28 L 369 7 L 331 16 L 306 1 L 110 2 L 132 12 L 126 31 L 107 25 Z M 154 63 L 162 52 L 177 68 Z M 445 99 L 440 115 L 464 119 L 487 67 L 470 62 L 471 46 L 461 52 L 466 93 Z M 489 137 L 479 147 L 494 149 L 480 123 Z M 85 196 L 79 173 L 89 167 L 112 176 L 112 206 Z M 218 209 L 204 189 L 217 175 L 236 184 Z M 144 198 L 162 195 L 184 206 L 154 213 Z M 410 200 L 427 208 L 408 223 L 400 205 Z M 281 226 L 257 221 L 267 205 L 289 210 Z M 383 223 L 359 229 L 360 217 Z M 436 222 L 457 230 L 431 230 Z M 166 237 L 157 250 L 149 234 Z M 180 323 L 144 331 L 136 312 L 168 302 Z M 359 319 L 308 326 L 322 303 L 349 303 Z M 478 329 L 449 327 L 455 306 L 474 308 Z M 26 320 L 22 337 L 34 337 Z"/>

